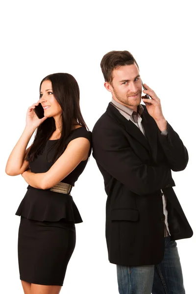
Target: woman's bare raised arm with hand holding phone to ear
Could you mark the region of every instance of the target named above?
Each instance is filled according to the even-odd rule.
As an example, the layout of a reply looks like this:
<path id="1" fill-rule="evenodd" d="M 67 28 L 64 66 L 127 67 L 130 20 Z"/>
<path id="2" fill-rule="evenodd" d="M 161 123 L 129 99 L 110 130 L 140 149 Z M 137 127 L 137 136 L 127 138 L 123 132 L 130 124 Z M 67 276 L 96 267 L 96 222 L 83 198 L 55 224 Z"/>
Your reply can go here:
<path id="1" fill-rule="evenodd" d="M 8 175 L 21 174 L 25 172 L 25 170 L 28 168 L 28 161 L 26 161 L 25 158 L 30 150 L 30 147 L 28 147 L 27 149 L 26 147 L 36 128 L 47 119 L 45 117 L 43 119 L 38 119 L 38 117 L 36 116 L 33 109 L 38 104 L 39 103 L 34 103 L 28 108 L 26 114 L 25 130 L 19 141 L 17 142 L 16 146 L 12 150 L 6 164 L 5 172 Z"/>

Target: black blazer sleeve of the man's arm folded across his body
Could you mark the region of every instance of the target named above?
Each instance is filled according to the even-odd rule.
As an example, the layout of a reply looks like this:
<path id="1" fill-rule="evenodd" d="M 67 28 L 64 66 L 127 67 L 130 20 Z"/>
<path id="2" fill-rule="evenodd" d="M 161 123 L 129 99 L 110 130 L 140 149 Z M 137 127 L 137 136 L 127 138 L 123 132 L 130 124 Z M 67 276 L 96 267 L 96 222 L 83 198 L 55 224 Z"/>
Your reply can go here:
<path id="1" fill-rule="evenodd" d="M 116 128 L 94 128 L 93 157 L 106 172 L 138 195 L 175 186 L 168 164 L 144 164 Z"/>

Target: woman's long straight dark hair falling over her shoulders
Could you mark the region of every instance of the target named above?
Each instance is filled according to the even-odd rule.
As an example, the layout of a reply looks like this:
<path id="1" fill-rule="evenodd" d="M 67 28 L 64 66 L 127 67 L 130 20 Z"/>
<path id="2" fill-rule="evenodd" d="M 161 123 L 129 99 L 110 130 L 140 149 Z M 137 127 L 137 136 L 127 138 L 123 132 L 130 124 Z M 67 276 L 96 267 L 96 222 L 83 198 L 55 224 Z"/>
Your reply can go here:
<path id="1" fill-rule="evenodd" d="M 88 129 L 82 117 L 79 106 L 79 87 L 73 75 L 69 73 L 53 73 L 47 75 L 40 83 L 40 91 L 42 83 L 50 80 L 52 84 L 53 95 L 59 103 L 61 114 L 61 137 L 56 141 L 55 154 L 52 161 L 56 161 L 64 152 L 66 140 L 72 130 L 73 124 L 80 124 Z M 33 161 L 38 154 L 42 154 L 46 142 L 56 130 L 54 118 L 48 118 L 38 128 L 35 134 L 33 144 L 26 157 L 27 161 Z"/>

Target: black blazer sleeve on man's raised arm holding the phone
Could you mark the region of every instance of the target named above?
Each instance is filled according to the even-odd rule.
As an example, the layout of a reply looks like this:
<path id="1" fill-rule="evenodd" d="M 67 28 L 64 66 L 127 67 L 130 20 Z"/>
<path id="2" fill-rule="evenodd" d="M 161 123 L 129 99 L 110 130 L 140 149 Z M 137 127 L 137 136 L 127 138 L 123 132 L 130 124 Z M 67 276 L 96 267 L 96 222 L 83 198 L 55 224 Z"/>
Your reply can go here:
<path id="1" fill-rule="evenodd" d="M 168 159 L 170 169 L 173 172 L 183 171 L 189 161 L 188 151 L 169 123 L 167 130 L 167 136 L 163 136 L 159 132 L 159 142 Z"/>

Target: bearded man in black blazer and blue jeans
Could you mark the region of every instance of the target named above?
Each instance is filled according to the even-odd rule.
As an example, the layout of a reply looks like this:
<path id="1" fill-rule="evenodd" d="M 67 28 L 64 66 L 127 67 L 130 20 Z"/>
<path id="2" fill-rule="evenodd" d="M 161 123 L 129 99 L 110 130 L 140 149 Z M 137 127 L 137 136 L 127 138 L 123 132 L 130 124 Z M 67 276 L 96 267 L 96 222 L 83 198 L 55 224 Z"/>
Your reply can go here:
<path id="1" fill-rule="evenodd" d="M 171 170 L 186 168 L 187 149 L 146 84 L 140 104 L 142 80 L 131 53 L 108 52 L 100 65 L 112 101 L 94 126 L 93 156 L 108 196 L 106 241 L 119 293 L 184 294 L 175 240 L 193 231 Z"/>

